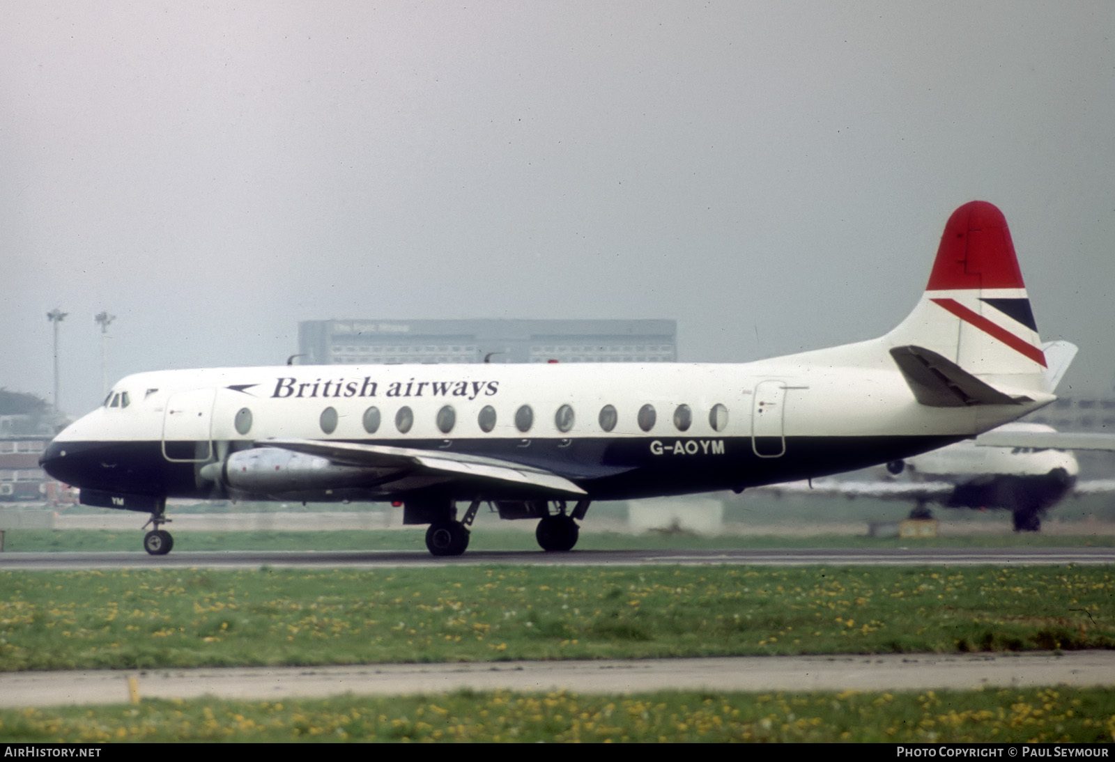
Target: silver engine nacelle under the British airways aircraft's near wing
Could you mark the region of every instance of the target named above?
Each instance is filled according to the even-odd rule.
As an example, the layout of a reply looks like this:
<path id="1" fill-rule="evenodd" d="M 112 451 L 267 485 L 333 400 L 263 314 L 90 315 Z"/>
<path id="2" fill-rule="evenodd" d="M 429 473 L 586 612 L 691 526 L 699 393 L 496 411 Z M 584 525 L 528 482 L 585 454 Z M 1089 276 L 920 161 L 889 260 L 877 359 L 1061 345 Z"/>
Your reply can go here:
<path id="1" fill-rule="evenodd" d="M 217 473 L 214 467 L 220 469 Z M 385 473 L 362 466 L 338 466 L 327 458 L 281 448 L 258 447 L 233 452 L 223 463 L 206 466 L 202 476 L 219 476 L 226 486 L 244 492 L 282 495 L 367 487 L 380 481 Z"/>

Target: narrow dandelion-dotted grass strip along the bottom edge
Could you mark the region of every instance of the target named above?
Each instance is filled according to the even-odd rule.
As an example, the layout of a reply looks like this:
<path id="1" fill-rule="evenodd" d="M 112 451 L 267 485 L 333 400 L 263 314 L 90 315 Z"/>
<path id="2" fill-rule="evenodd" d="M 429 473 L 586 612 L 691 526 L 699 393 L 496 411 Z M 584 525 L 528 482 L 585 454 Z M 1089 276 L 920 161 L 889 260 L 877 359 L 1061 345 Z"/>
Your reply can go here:
<path id="1" fill-rule="evenodd" d="M 149 701 L 0 711 L 0 742 L 1111 743 L 1115 694 L 970 692 L 454 693 L 319 701 Z"/>

